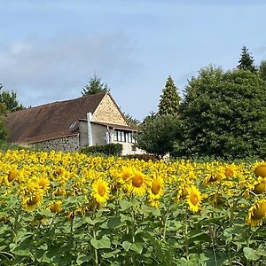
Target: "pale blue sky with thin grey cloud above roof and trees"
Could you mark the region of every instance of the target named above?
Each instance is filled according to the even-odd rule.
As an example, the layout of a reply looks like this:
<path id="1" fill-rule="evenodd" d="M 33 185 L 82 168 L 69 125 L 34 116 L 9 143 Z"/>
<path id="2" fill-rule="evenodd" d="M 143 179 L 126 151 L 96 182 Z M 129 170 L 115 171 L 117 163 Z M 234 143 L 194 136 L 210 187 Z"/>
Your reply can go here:
<path id="1" fill-rule="evenodd" d="M 121 111 L 158 111 L 200 68 L 266 59 L 264 0 L 0 0 L 0 83 L 23 106 L 81 97 L 96 74 Z"/>

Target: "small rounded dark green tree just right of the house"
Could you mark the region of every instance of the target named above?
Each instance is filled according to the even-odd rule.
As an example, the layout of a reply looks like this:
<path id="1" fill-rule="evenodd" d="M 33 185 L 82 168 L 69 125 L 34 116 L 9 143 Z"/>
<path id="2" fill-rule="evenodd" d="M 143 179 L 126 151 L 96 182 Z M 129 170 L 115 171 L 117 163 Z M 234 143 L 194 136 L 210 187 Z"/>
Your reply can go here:
<path id="1" fill-rule="evenodd" d="M 178 120 L 173 115 L 156 115 L 145 121 L 136 136 L 137 146 L 158 157 L 172 152 L 177 135 Z"/>

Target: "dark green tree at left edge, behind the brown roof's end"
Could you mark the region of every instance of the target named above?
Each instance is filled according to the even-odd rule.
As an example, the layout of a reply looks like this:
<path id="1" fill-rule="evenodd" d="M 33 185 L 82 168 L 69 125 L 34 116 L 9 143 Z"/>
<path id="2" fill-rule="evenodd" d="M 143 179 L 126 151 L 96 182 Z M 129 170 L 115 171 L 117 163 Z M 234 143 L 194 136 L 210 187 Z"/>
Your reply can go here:
<path id="1" fill-rule="evenodd" d="M 0 84 L 0 103 L 4 104 L 7 113 L 19 111 L 24 108 L 17 99 L 17 93 L 13 90 L 9 92 L 3 89 L 3 85 Z"/>

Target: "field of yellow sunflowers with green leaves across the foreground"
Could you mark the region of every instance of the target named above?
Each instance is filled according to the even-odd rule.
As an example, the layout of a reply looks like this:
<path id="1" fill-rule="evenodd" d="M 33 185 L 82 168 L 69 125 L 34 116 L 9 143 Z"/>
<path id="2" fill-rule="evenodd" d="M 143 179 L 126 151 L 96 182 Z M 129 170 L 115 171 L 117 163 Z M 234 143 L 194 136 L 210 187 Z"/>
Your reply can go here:
<path id="1" fill-rule="evenodd" d="M 266 265 L 266 163 L 0 153 L 0 265 Z"/>

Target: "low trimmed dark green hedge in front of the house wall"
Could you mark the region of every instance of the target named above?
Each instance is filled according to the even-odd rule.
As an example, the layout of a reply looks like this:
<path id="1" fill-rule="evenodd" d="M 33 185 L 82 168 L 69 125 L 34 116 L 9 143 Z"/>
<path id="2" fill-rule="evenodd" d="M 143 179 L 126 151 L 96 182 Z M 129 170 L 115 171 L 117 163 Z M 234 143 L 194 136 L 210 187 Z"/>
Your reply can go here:
<path id="1" fill-rule="evenodd" d="M 111 143 L 106 145 L 88 146 L 82 148 L 82 153 L 89 153 L 89 154 L 102 153 L 106 154 L 107 156 L 109 155 L 121 156 L 122 145 Z"/>

